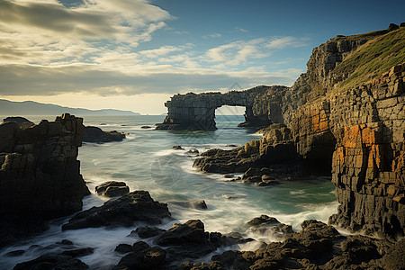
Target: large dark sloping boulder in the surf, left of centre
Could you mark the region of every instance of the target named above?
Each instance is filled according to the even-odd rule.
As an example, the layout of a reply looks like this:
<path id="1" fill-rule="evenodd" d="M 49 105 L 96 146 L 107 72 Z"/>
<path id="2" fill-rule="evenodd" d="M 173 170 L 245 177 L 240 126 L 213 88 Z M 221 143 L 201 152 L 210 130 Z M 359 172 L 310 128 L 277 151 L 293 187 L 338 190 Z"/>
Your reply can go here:
<path id="1" fill-rule="evenodd" d="M 171 215 L 166 203 L 153 201 L 146 191 L 135 191 L 104 202 L 103 206 L 77 213 L 62 229 L 130 227 L 135 221 L 159 224 L 161 220 L 168 218 Z"/>

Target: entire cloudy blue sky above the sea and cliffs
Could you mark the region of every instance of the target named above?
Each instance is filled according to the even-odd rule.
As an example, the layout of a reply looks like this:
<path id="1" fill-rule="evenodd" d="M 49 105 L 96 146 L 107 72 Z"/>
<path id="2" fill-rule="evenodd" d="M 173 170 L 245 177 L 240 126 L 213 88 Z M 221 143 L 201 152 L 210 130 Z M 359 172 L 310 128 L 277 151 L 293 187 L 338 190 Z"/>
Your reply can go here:
<path id="1" fill-rule="evenodd" d="M 0 0 L 0 98 L 166 112 L 173 94 L 293 85 L 313 48 L 405 2 Z"/>

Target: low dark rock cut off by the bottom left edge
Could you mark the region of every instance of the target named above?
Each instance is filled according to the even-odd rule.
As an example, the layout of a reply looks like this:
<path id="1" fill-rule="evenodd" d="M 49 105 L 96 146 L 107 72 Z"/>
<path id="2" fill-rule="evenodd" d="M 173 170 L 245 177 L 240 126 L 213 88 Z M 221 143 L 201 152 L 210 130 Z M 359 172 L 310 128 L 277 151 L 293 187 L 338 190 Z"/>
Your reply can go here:
<path id="1" fill-rule="evenodd" d="M 44 255 L 14 266 L 14 270 L 26 269 L 58 269 L 58 270 L 84 270 L 88 269 L 79 259 L 64 255 Z"/>

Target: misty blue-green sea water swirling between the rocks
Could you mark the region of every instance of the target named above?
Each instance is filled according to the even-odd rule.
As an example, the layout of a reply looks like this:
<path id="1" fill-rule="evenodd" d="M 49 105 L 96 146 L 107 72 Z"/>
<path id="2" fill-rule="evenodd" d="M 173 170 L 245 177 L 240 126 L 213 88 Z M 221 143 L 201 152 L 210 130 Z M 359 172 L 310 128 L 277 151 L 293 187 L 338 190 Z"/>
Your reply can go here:
<path id="1" fill-rule="evenodd" d="M 292 225 L 294 230 L 300 230 L 303 220 L 327 221 L 337 211 L 338 202 L 329 178 L 313 177 L 308 181 L 292 180 L 275 186 L 258 187 L 229 182 L 223 175 L 202 173 L 193 167 L 193 160 L 198 156 L 188 153 L 190 149 L 198 149 L 200 153 L 210 148 L 230 149 L 260 138 L 255 133 L 257 130 L 238 128 L 238 123 L 244 121 L 243 116 L 217 116 L 216 131 L 153 130 L 155 123 L 162 122 L 164 117 L 85 117 L 86 126 L 125 132 L 127 138 L 103 144 L 84 143 L 79 148 L 81 173 L 92 192 L 84 199 L 84 210 L 100 206 L 107 200 L 94 195 L 96 185 L 106 181 L 123 181 L 130 186 L 130 191 L 147 190 L 155 201 L 167 202 L 174 220 L 165 220 L 160 228 L 168 229 L 174 222 L 202 220 L 207 231 L 238 231 L 258 240 L 241 247 L 228 247 L 244 250 L 275 240 L 271 234 L 258 235 L 248 229 L 247 221 L 261 214 L 275 217 L 280 222 Z M 54 120 L 53 116 L 27 118 L 35 123 L 41 119 Z M 152 129 L 141 129 L 146 125 Z M 175 145 L 184 149 L 171 149 Z M 206 210 L 185 207 L 186 203 L 182 203 L 200 200 L 206 202 Z M 133 244 L 139 240 L 129 237 L 130 231 L 145 225 L 136 223 L 131 228 L 76 229 L 62 232 L 60 227 L 68 218 L 51 220 L 46 232 L 3 248 L 0 251 L 0 268 L 13 268 L 17 263 L 50 252 L 61 252 L 63 247 L 55 243 L 69 239 L 77 248 L 94 248 L 94 254 L 80 257 L 90 268 L 110 269 L 122 257 L 113 251 L 114 248 L 121 243 Z M 6 256 L 8 252 L 18 249 L 25 250 L 22 256 Z M 217 253 L 223 251 L 224 249 L 220 249 Z"/>

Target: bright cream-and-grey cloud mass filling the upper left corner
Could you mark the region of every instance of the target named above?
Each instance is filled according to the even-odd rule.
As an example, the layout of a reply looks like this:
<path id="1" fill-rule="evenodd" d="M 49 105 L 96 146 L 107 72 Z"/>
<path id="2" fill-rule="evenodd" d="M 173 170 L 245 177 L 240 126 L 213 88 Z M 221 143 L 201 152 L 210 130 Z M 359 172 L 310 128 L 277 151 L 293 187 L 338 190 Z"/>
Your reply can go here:
<path id="1" fill-rule="evenodd" d="M 103 46 L 134 48 L 170 19 L 145 0 L 85 0 L 71 8 L 56 0 L 0 0 L 0 64 L 50 65 L 82 61 Z"/>

